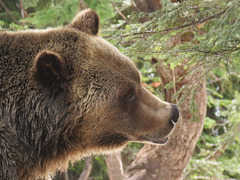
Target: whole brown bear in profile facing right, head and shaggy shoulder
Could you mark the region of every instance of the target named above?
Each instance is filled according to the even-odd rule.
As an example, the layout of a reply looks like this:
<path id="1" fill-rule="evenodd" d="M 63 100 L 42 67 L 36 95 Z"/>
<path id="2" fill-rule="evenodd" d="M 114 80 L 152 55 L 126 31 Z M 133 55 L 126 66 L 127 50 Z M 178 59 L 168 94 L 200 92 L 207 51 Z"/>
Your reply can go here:
<path id="1" fill-rule="evenodd" d="M 132 141 L 167 142 L 177 107 L 144 89 L 98 29 L 88 9 L 64 27 L 0 33 L 1 180 L 44 179 Z"/>

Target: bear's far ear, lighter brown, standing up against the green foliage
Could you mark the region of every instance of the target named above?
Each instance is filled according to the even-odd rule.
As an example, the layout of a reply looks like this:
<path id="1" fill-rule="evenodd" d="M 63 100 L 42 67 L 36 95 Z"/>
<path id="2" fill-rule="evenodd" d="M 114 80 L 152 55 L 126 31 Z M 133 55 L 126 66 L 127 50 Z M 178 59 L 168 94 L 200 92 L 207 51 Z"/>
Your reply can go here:
<path id="1" fill-rule="evenodd" d="M 86 9 L 74 18 L 69 24 L 69 27 L 73 27 L 91 35 L 97 35 L 99 30 L 99 17 L 95 11 Z"/>

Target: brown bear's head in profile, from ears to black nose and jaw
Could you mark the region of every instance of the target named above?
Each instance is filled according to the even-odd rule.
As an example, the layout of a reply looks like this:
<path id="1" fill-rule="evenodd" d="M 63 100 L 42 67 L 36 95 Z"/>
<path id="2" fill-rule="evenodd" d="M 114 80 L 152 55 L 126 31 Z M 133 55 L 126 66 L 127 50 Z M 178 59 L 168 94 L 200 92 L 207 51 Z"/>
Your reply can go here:
<path id="1" fill-rule="evenodd" d="M 51 94 L 59 144 L 86 153 L 128 142 L 165 144 L 178 108 L 148 92 L 134 63 L 98 37 L 98 29 L 98 15 L 85 10 L 68 26 L 49 30 L 35 57 L 32 75 Z"/>

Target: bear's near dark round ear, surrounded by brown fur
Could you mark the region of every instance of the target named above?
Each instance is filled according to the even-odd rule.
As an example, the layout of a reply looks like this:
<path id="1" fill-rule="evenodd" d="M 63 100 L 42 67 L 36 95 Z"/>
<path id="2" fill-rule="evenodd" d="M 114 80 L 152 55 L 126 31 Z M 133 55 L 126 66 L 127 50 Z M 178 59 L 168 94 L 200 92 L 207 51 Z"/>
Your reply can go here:
<path id="1" fill-rule="evenodd" d="M 65 69 L 66 64 L 59 54 L 45 50 L 35 58 L 32 73 L 39 80 L 59 80 L 63 78 Z"/>

